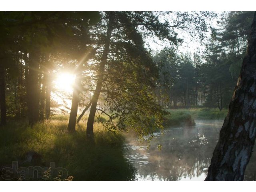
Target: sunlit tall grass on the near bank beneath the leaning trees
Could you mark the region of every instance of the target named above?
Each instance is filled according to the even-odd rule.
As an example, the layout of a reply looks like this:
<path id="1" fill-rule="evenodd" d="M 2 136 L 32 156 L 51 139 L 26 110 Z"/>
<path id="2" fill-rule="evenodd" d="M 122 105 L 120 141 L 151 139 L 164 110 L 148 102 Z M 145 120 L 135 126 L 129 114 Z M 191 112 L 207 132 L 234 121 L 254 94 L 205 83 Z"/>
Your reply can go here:
<path id="1" fill-rule="evenodd" d="M 10 122 L 2 127 L 0 167 L 16 160 L 20 163 L 27 152 L 33 151 L 42 154 L 42 161 L 27 166 L 49 167 L 50 162 L 55 162 L 56 167 L 66 168 L 75 181 L 134 180 L 136 171 L 122 153 L 122 136 L 96 123 L 92 143 L 86 139 L 83 122 L 74 134 L 68 134 L 67 119 L 53 116 L 32 128 L 26 122 Z"/>

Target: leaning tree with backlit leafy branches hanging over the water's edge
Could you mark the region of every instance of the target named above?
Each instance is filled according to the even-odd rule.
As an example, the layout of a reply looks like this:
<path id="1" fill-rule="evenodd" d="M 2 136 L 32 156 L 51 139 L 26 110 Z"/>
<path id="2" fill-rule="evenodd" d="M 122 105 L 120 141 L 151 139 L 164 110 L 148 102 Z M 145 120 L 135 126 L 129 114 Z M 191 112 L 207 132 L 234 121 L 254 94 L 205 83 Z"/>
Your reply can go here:
<path id="1" fill-rule="evenodd" d="M 175 14 L 178 19 L 169 22 L 170 18 L 166 18 L 165 14 Z M 201 14 L 209 15 L 205 12 Z M 163 17 L 161 18 L 161 16 Z M 152 86 L 155 86 L 154 81 L 158 76 L 158 70 L 150 53 L 145 48 L 145 39 L 154 36 L 160 40 L 169 41 L 172 45 L 177 45 L 182 40 L 177 37 L 174 28 L 184 29 L 186 23 L 196 21 L 198 14 L 196 17 L 191 17 L 188 12 L 124 11 L 102 12 L 102 18 L 102 23 L 96 26 L 94 30 L 98 32 L 95 40 L 98 42 L 97 56 L 100 64 L 97 67 L 94 66 L 94 70 L 96 68 L 96 71 L 94 71 L 96 88 L 87 122 L 87 136 L 93 137 L 96 112 L 98 112 L 98 115 L 100 113 L 108 115 L 109 121 L 105 126 L 118 129 L 116 125 L 119 125 L 120 129 L 125 129 L 124 122 L 129 122 L 128 119 L 130 119 L 130 126 L 137 127 L 136 130 L 143 132 L 142 127 L 148 125 L 148 123 L 144 123 L 143 126 L 142 122 L 148 120 L 159 124 L 161 116 L 161 110 L 156 110 L 155 113 L 150 110 L 153 106 L 159 109 L 152 102 L 154 100 Z M 201 32 L 206 30 L 204 28 L 206 25 L 202 20 L 204 20 L 203 17 L 196 21 L 198 31 L 201 30 Z M 97 64 L 97 62 L 95 63 Z M 130 67 L 128 64 L 130 64 Z M 130 82 L 131 78 L 134 78 L 133 84 Z M 132 90 L 131 87 L 134 89 Z M 139 95 L 141 95 L 141 98 L 139 98 Z M 102 97 L 104 105 L 99 105 L 100 97 Z M 149 99 L 150 102 L 147 102 L 146 99 Z M 141 103 L 136 104 L 135 101 Z M 139 106 L 142 106 L 142 103 L 144 107 L 140 108 Z M 139 108 L 141 110 L 138 110 Z M 136 114 L 136 112 L 138 113 Z M 143 118 L 142 114 L 147 118 Z M 155 114 L 158 115 L 155 116 Z M 135 121 L 131 119 L 132 116 Z M 149 116 L 154 117 L 154 120 Z M 118 119 L 116 124 L 113 121 L 115 118 Z M 140 125 L 140 128 L 138 128 L 138 125 Z M 146 132 L 147 130 L 145 130 Z"/>

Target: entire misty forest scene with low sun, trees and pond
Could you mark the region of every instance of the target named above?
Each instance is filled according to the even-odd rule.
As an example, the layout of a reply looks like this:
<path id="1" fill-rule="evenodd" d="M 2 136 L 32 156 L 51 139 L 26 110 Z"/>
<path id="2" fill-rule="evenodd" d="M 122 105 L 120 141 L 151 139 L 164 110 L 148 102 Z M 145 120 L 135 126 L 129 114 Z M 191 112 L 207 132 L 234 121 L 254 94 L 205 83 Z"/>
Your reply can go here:
<path id="1" fill-rule="evenodd" d="M 0 181 L 256 180 L 255 12 L 0 11 L 0 49 Z"/>

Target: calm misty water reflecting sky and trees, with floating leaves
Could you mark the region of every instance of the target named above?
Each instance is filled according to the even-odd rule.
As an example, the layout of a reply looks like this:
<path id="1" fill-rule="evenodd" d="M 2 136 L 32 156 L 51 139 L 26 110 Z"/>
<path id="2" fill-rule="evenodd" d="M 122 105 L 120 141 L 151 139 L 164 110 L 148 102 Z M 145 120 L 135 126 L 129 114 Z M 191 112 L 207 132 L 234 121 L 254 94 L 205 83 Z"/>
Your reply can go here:
<path id="1" fill-rule="evenodd" d="M 154 133 L 150 148 L 127 137 L 125 157 L 137 169 L 138 181 L 203 181 L 218 141 L 222 120 L 196 120 L 196 126 L 166 128 Z M 158 144 L 162 145 L 158 150 Z M 245 180 L 255 180 L 256 155 L 247 166 Z"/>

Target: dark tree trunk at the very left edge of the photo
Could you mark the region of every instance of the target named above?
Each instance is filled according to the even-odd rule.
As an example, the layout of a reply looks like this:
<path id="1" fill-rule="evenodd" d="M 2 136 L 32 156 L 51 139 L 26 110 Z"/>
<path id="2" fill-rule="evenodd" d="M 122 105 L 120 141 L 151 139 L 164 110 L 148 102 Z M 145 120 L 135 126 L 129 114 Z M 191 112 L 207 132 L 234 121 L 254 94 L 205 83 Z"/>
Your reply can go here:
<path id="1" fill-rule="evenodd" d="M 1 120 L 0 125 L 6 124 L 6 100 L 5 100 L 5 70 L 0 65 L 0 109 L 1 109 Z"/>

